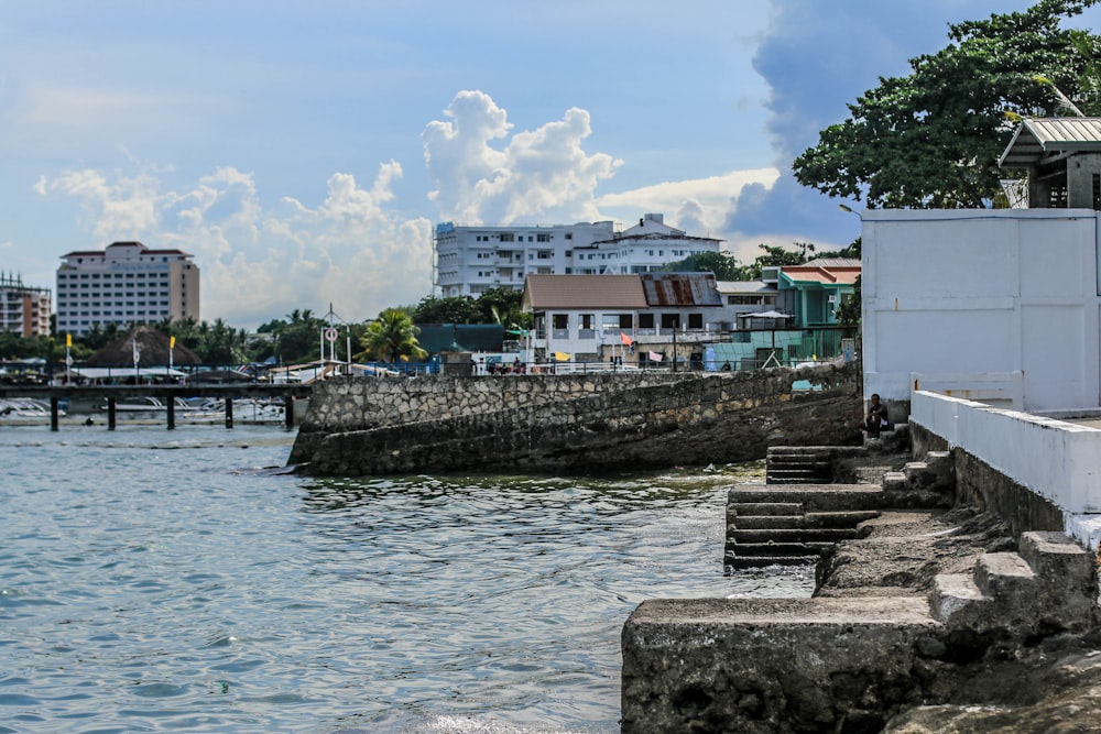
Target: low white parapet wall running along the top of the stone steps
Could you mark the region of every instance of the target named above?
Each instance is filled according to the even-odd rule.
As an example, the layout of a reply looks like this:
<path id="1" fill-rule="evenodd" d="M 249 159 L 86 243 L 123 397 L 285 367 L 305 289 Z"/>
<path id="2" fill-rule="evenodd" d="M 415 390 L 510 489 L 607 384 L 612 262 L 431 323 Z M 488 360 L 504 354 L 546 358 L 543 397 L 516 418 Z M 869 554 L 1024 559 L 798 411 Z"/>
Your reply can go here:
<path id="1" fill-rule="evenodd" d="M 945 438 L 1064 512 L 1066 532 L 1101 539 L 1101 430 L 927 391 L 911 421 Z"/>

